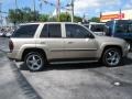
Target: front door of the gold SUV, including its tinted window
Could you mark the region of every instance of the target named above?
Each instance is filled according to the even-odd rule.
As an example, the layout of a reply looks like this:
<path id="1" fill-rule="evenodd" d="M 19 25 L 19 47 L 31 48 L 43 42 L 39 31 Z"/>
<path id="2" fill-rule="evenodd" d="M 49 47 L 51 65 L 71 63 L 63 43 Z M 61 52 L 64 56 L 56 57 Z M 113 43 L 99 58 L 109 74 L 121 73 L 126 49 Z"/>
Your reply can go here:
<path id="1" fill-rule="evenodd" d="M 98 45 L 87 29 L 78 24 L 66 24 L 65 30 L 65 58 L 96 58 Z"/>

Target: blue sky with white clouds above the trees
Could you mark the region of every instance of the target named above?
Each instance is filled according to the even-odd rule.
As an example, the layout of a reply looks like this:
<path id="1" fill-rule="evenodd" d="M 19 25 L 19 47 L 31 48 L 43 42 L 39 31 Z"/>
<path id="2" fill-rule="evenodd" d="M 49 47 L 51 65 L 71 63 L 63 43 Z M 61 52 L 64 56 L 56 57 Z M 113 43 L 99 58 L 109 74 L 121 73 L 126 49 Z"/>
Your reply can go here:
<path id="1" fill-rule="evenodd" d="M 48 2 L 56 3 L 56 0 L 47 0 Z M 0 0 L 2 2 L 2 11 L 8 12 L 9 9 L 15 9 L 15 0 Z M 42 3 L 42 8 L 40 8 Z M 70 3 L 70 0 L 61 0 L 62 7 L 66 7 Z M 88 18 L 99 16 L 100 12 L 118 11 L 120 9 L 132 9 L 132 0 L 74 0 L 75 14 Z M 52 14 L 55 11 L 55 7 L 45 4 L 43 0 L 35 0 L 36 10 L 41 13 Z M 30 7 L 33 9 L 33 0 L 18 0 L 18 7 Z"/>

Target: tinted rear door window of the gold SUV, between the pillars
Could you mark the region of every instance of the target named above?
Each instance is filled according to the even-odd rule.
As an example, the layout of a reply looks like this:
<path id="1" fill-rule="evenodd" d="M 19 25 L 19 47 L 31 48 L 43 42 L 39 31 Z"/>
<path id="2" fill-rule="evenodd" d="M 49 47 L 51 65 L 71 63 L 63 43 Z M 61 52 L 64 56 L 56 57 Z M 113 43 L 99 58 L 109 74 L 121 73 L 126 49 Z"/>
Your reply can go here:
<path id="1" fill-rule="evenodd" d="M 45 24 L 40 37 L 62 37 L 61 24 Z"/>

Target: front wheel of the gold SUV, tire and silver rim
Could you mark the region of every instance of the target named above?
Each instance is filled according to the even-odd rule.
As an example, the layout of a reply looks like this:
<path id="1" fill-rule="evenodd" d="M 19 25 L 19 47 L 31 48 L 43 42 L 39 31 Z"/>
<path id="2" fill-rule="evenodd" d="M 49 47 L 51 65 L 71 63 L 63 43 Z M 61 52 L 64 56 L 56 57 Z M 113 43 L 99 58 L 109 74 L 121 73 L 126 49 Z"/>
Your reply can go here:
<path id="1" fill-rule="evenodd" d="M 120 65 L 122 59 L 121 52 L 118 48 L 108 48 L 102 56 L 102 63 L 108 67 L 114 67 Z"/>

